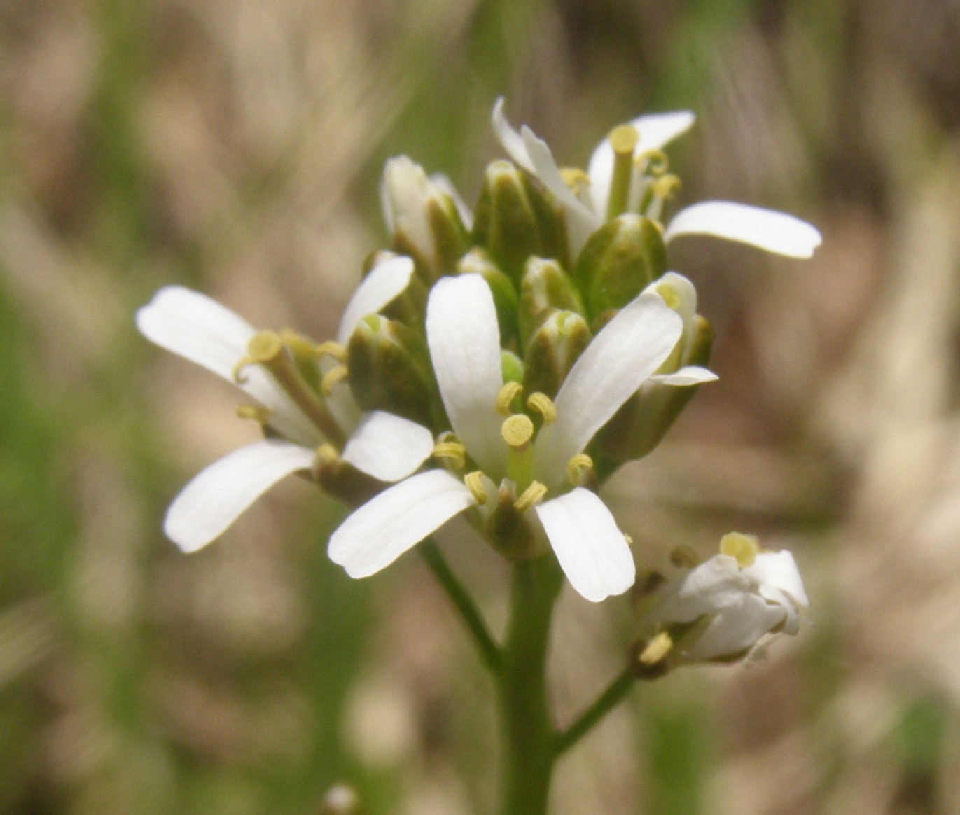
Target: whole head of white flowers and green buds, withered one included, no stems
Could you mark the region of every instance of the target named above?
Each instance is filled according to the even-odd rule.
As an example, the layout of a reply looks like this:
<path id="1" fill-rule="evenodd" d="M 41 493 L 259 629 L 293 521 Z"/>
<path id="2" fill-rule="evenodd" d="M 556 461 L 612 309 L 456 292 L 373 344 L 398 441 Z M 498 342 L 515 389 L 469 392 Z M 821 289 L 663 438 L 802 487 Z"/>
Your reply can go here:
<path id="1" fill-rule="evenodd" d="M 512 562 L 552 551 L 588 600 L 633 586 L 630 541 L 598 490 L 716 378 L 709 324 L 692 283 L 668 271 L 668 246 L 700 233 L 808 257 L 820 242 L 790 215 L 729 202 L 664 223 L 679 181 L 663 148 L 692 123 L 686 111 L 641 116 L 586 170 L 561 168 L 499 100 L 492 125 L 511 160 L 489 165 L 472 210 L 444 177 L 389 160 L 390 250 L 374 255 L 331 342 L 257 331 L 203 295 L 162 289 L 138 312 L 140 330 L 238 385 L 253 402 L 240 415 L 264 437 L 180 492 L 168 536 L 198 549 L 299 473 L 355 508 L 328 550 L 353 577 L 462 514 Z M 727 636 L 740 613 L 763 620 L 760 634 L 795 629 L 799 575 L 780 602 L 767 555 L 736 568 L 717 558 L 661 587 L 647 615 L 652 640 L 673 637 L 671 659 L 749 650 L 756 625 Z M 696 643 L 680 648 L 676 627 L 691 625 Z"/>

